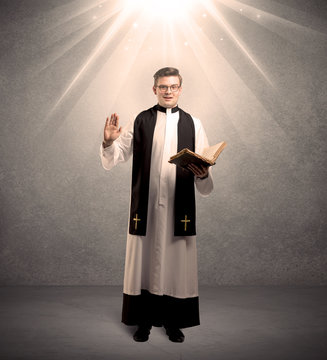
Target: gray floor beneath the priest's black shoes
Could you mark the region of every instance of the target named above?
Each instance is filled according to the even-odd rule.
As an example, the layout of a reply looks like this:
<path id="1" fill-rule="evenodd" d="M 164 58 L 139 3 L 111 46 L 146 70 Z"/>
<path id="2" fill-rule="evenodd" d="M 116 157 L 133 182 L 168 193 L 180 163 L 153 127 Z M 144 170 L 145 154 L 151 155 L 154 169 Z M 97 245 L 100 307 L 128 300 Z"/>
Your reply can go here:
<path id="1" fill-rule="evenodd" d="M 0 359 L 327 359 L 326 287 L 202 287 L 201 326 L 136 343 L 120 287 L 0 288 Z"/>

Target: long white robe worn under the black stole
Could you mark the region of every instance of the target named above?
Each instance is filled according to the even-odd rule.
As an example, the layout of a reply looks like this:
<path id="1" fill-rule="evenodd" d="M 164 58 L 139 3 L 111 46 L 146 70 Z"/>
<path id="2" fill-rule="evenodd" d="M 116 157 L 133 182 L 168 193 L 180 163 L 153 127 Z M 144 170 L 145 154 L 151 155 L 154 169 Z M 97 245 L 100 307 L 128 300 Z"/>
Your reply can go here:
<path id="1" fill-rule="evenodd" d="M 127 233 L 123 292 L 140 295 L 141 289 L 156 295 L 176 298 L 198 296 L 198 269 L 195 236 L 174 236 L 174 195 L 176 165 L 168 162 L 177 152 L 177 123 L 179 111 L 157 111 L 153 135 L 148 221 L 146 236 Z M 208 146 L 200 120 L 193 118 L 195 152 L 202 153 Z M 103 148 L 102 166 L 110 170 L 133 154 L 131 121 L 114 143 Z M 213 189 L 211 171 L 206 179 L 195 179 L 197 190 L 208 195 Z"/>

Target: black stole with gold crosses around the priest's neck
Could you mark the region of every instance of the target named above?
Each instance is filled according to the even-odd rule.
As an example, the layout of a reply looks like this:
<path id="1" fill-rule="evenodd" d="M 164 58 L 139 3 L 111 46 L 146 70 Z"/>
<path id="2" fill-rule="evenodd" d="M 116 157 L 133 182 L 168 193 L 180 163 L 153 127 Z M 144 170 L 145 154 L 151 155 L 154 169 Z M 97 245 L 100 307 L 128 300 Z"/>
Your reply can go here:
<path id="1" fill-rule="evenodd" d="M 151 153 L 154 128 L 157 121 L 157 110 L 166 112 L 165 108 L 156 105 L 141 112 L 134 122 L 132 191 L 129 221 L 129 233 L 133 235 L 146 235 Z M 172 112 L 175 111 L 179 111 L 177 151 L 184 148 L 194 151 L 195 129 L 193 119 L 190 114 L 178 107 L 172 109 Z M 176 166 L 174 209 L 174 235 L 195 235 L 194 175 L 191 171 L 184 170 L 178 166 Z"/>

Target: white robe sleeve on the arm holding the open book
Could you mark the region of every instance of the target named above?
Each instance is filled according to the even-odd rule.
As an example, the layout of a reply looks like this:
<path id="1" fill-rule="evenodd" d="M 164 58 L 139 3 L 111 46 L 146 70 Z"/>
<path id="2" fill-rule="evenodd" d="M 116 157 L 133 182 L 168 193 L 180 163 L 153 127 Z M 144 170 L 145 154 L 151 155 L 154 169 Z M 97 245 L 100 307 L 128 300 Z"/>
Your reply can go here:
<path id="1" fill-rule="evenodd" d="M 200 120 L 193 118 L 195 126 L 195 152 L 202 154 L 203 149 L 209 146 L 207 135 Z M 208 196 L 213 190 L 213 180 L 211 167 L 209 167 L 209 175 L 205 179 L 195 178 L 195 185 L 198 192 L 202 196 Z"/>

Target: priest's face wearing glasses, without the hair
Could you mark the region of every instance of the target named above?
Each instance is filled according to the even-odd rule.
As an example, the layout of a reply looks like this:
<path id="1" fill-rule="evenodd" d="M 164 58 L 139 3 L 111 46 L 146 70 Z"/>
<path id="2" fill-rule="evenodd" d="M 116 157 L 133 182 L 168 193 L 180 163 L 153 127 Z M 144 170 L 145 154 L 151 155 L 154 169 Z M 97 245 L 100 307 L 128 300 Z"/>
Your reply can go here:
<path id="1" fill-rule="evenodd" d="M 153 92 L 157 95 L 159 105 L 165 108 L 175 107 L 182 92 L 182 87 L 179 87 L 179 85 L 178 76 L 160 77 L 158 79 L 157 86 L 153 87 Z M 177 86 L 178 88 L 174 91 L 174 88 Z"/>

